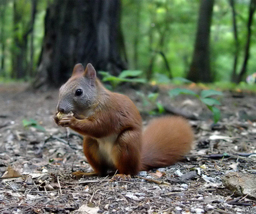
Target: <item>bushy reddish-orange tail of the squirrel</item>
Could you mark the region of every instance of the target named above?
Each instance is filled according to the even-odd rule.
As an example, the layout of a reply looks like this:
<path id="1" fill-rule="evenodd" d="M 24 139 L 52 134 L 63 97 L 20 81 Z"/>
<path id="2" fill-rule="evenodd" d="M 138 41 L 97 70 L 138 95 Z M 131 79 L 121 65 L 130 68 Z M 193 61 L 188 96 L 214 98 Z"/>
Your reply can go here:
<path id="1" fill-rule="evenodd" d="M 181 117 L 161 117 L 149 122 L 142 135 L 140 171 L 169 166 L 192 148 L 194 134 Z"/>

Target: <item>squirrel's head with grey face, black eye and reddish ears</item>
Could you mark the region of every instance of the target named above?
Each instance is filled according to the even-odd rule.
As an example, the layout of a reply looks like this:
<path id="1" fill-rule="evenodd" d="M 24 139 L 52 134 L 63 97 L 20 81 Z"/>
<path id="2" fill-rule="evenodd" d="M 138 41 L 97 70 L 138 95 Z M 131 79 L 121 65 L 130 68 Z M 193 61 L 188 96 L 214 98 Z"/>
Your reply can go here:
<path id="1" fill-rule="evenodd" d="M 88 63 L 85 70 L 82 64 L 76 64 L 72 76 L 60 87 L 57 110 L 68 114 L 86 114 L 97 98 L 96 71 Z"/>

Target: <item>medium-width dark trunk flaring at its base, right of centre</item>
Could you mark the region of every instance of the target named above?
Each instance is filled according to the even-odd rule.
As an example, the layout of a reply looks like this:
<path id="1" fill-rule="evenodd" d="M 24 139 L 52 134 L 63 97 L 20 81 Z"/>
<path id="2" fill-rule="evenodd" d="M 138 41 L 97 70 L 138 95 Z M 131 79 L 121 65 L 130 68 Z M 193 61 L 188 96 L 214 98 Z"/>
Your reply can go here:
<path id="1" fill-rule="evenodd" d="M 195 82 L 212 81 L 209 57 L 210 27 L 213 0 L 201 0 L 196 42 L 188 79 Z"/>

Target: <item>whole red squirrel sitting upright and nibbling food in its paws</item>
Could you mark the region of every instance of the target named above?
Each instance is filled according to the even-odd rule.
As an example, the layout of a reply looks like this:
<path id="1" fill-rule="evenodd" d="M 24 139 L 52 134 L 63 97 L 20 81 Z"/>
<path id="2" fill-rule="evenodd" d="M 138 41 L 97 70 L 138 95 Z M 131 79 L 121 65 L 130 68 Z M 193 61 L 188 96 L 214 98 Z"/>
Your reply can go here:
<path id="1" fill-rule="evenodd" d="M 104 88 L 89 63 L 85 70 L 76 64 L 72 76 L 61 86 L 54 116 L 59 126 L 84 135 L 83 148 L 94 172 L 118 170 L 125 175 L 169 166 L 186 155 L 194 139 L 188 122 L 177 116 L 153 119 L 142 131 L 140 113 L 125 95 Z M 73 112 L 73 114 L 68 114 Z"/>

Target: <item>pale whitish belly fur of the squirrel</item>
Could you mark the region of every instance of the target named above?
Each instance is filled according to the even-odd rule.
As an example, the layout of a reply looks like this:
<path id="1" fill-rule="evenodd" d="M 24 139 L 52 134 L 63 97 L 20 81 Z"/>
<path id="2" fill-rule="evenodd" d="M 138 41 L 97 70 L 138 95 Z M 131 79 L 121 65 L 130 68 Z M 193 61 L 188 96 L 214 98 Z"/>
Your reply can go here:
<path id="1" fill-rule="evenodd" d="M 103 157 L 105 157 L 108 164 L 114 165 L 112 157 L 112 149 L 116 141 L 117 134 L 112 134 L 107 137 L 97 138 L 99 143 L 99 150 Z"/>

